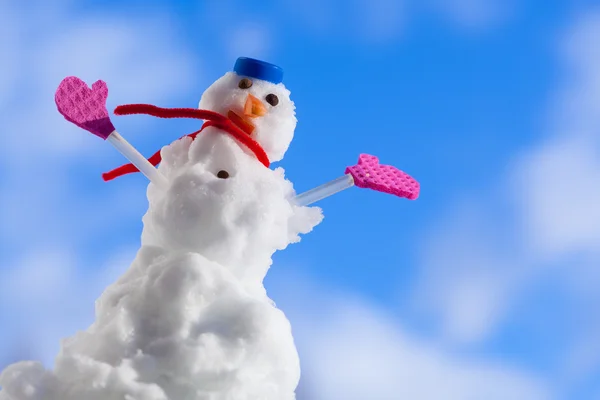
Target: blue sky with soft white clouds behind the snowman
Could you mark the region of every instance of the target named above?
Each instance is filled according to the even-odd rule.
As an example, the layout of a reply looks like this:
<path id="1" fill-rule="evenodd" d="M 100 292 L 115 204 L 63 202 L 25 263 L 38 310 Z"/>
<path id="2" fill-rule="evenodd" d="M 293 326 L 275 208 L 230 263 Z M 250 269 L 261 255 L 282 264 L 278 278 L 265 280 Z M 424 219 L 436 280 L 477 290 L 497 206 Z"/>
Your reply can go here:
<path id="1" fill-rule="evenodd" d="M 238 56 L 283 67 L 304 191 L 360 153 L 421 182 L 358 188 L 275 255 L 299 400 L 600 398 L 600 8 L 593 1 L 0 4 L 0 365 L 47 364 L 133 259 L 143 176 L 56 112 L 60 80 L 109 106 L 194 107 Z M 115 117 L 152 154 L 193 121 Z M 495 396 L 495 397 L 494 397 Z"/>

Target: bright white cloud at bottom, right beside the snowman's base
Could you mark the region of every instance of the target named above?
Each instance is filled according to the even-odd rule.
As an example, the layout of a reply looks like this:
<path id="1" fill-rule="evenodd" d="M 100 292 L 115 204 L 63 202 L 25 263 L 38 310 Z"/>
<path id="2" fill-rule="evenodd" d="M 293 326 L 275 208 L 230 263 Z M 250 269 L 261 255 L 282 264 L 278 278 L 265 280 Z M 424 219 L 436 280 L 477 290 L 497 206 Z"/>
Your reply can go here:
<path id="1" fill-rule="evenodd" d="M 303 391 L 311 398 L 552 398 L 547 384 L 536 376 L 418 340 L 360 298 L 297 276 L 273 286 L 279 294 L 275 298 L 292 319 L 307 376 Z"/>

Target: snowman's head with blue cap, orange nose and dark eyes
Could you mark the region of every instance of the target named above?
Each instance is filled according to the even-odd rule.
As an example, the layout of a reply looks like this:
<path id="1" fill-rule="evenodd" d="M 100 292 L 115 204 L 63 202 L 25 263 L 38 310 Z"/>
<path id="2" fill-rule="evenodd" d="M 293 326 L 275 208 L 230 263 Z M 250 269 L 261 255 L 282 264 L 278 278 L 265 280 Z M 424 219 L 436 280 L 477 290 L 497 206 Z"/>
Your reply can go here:
<path id="1" fill-rule="evenodd" d="M 227 116 L 257 141 L 269 161 L 283 158 L 296 129 L 295 106 L 276 65 L 240 57 L 233 72 L 213 83 L 202 95 L 199 108 Z"/>

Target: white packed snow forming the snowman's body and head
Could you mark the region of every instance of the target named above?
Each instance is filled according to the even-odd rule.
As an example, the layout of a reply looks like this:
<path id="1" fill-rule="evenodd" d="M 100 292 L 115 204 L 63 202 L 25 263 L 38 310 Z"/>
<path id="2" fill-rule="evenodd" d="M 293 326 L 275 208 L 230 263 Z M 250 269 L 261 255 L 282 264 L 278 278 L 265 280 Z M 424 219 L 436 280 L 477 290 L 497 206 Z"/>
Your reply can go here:
<path id="1" fill-rule="evenodd" d="M 238 80 L 218 80 L 201 108 L 243 106 Z M 269 156 L 283 157 L 296 124 L 289 92 L 262 82 L 250 89 L 280 99 L 255 135 Z M 97 300 L 95 322 L 63 341 L 54 369 L 5 369 L 0 400 L 295 399 L 291 326 L 263 278 L 273 253 L 319 224 L 321 210 L 294 205 L 283 169 L 265 168 L 216 128 L 162 155 L 169 185 L 148 186 L 141 248 Z"/>

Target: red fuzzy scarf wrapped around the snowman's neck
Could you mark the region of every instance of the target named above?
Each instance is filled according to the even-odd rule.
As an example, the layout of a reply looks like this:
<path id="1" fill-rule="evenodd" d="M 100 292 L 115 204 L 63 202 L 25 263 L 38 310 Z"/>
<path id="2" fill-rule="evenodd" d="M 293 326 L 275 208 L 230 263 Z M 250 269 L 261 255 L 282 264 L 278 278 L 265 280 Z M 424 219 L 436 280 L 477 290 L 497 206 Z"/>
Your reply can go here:
<path id="1" fill-rule="evenodd" d="M 196 138 L 198 133 L 202 132 L 204 128 L 214 126 L 226 133 L 229 133 L 238 142 L 246 146 L 250 151 L 254 153 L 258 161 L 260 161 L 265 167 L 269 167 L 269 157 L 262 148 L 262 146 L 254 139 L 252 139 L 246 132 L 241 130 L 231 120 L 217 112 L 209 110 L 199 110 L 196 108 L 161 108 L 150 104 L 126 104 L 115 108 L 115 115 L 132 115 L 132 114 L 147 114 L 159 118 L 194 118 L 203 119 L 206 122 L 202 125 L 202 128 L 194 133 L 190 133 L 189 136 L 193 139 Z M 182 136 L 185 137 L 185 136 Z M 160 150 L 154 153 L 152 157 L 148 159 L 150 163 L 157 166 L 161 162 Z M 119 176 L 139 172 L 137 167 L 133 164 L 125 164 L 112 171 L 102 174 L 102 179 L 110 181 L 118 178 Z"/>

